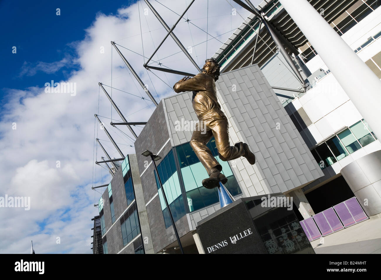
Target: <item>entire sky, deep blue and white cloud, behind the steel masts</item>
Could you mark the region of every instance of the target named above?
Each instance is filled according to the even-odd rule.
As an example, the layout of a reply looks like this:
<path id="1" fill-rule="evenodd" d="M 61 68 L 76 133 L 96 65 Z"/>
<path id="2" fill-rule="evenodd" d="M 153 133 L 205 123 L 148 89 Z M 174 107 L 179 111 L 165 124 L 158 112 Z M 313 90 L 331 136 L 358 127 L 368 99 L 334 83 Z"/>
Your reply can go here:
<path id="1" fill-rule="evenodd" d="M 189 4 L 189 0 L 150 2 L 168 26 Z M 182 19 L 174 32 L 202 66 L 250 13 L 231 0 L 195 4 L 185 16 L 191 21 Z M 61 15 L 56 15 L 56 8 Z M 232 16 L 232 8 L 237 15 Z M 111 157 L 119 157 L 94 113 L 101 116 L 123 154 L 135 153 L 128 129 L 107 125 L 119 117 L 99 93 L 98 82 L 122 90 L 108 88 L 128 121 L 146 121 L 154 110 L 149 99 L 139 98 L 146 93 L 112 51 L 110 41 L 120 45 L 157 101 L 174 94 L 172 85 L 182 78 L 155 72 L 168 86 L 142 67 L 142 53 L 152 54 L 166 34 L 146 11 L 143 1 L 0 2 L 0 197 L 30 197 L 28 211 L 0 208 L 0 253 L 29 253 L 30 240 L 36 253 L 92 252 L 91 218 L 98 214 L 93 205 L 104 189 L 91 187 L 111 179 L 105 166 L 94 164 L 104 156 L 94 138 L 102 140 Z M 195 72 L 171 38 L 153 61 Z M 47 93 L 45 83 L 51 80 L 75 84 L 75 94 Z M 134 130 L 139 134 L 142 127 Z"/>

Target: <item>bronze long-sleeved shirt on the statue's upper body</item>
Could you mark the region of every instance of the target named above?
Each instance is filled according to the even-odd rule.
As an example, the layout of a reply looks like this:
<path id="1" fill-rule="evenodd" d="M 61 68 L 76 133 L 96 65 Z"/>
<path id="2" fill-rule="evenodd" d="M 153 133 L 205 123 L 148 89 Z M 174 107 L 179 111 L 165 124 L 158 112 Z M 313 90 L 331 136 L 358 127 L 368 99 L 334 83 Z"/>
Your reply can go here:
<path id="1" fill-rule="evenodd" d="M 211 75 L 197 74 L 193 78 L 175 83 L 173 90 L 176 93 L 184 91 L 195 91 L 197 93 L 194 96 L 192 105 L 199 120 L 207 112 L 221 110 L 217 101 L 216 84 Z"/>

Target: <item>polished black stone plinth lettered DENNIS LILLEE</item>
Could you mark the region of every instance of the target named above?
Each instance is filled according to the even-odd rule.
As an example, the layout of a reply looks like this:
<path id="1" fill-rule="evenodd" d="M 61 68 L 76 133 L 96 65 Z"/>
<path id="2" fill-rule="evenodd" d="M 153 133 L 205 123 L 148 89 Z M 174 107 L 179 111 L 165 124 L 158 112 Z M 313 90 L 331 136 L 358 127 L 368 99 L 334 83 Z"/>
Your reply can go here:
<path id="1" fill-rule="evenodd" d="M 265 196 L 269 203 L 264 196 L 239 198 L 199 221 L 205 254 L 314 254 L 292 201 L 275 205 L 271 199 L 279 202 L 283 194 Z"/>

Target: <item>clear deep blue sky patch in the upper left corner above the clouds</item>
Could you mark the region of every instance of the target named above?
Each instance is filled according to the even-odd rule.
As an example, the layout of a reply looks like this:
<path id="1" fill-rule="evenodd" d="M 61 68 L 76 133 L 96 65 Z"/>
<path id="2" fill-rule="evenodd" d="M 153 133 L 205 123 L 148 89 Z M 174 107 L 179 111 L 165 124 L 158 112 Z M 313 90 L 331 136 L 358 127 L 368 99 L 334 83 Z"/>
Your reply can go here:
<path id="1" fill-rule="evenodd" d="M 24 89 L 29 86 L 43 86 L 39 80 L 51 75 L 37 71 L 35 75 L 24 74 L 20 77 L 22 66 L 27 62 L 35 66 L 39 61 L 52 63 L 61 61 L 65 55 L 75 55 L 68 45 L 82 40 L 85 29 L 94 21 L 97 13 L 116 13 L 122 6 L 136 1 L 1 1 L 0 11 L 3 26 L 3 40 L 0 45 L 2 64 L 0 75 L 3 87 Z M 61 15 L 56 15 L 56 9 Z M 17 53 L 12 53 L 16 46 Z M 69 77 L 70 70 L 78 65 L 62 66 L 54 76 L 57 80 Z"/>

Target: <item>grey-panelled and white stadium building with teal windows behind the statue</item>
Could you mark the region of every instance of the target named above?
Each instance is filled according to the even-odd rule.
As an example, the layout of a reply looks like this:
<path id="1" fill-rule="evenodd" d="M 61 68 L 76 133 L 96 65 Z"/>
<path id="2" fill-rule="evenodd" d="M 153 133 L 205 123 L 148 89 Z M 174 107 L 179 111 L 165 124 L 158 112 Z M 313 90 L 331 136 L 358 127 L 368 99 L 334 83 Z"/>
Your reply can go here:
<path id="1" fill-rule="evenodd" d="M 299 220 L 354 196 L 368 201 L 362 205 L 368 216 L 379 214 L 381 144 L 367 123 L 375 120 L 364 119 L 280 2 L 256 7 L 273 36 L 251 14 L 213 56 L 231 144 L 248 143 L 257 159 L 253 166 L 244 158 L 223 162 L 212 139 L 226 187 L 236 199 L 292 197 Z M 381 2 L 309 3 L 381 78 Z M 179 253 L 163 190 L 141 155 L 147 149 L 161 157 L 156 165 L 184 252 L 204 253 L 195 229 L 219 202 L 215 189 L 202 187 L 208 175 L 189 145 L 197 122 L 191 98 L 186 92 L 159 102 L 134 143 L 136 155 L 125 158 L 99 200 L 104 253 Z"/>

